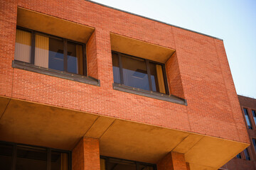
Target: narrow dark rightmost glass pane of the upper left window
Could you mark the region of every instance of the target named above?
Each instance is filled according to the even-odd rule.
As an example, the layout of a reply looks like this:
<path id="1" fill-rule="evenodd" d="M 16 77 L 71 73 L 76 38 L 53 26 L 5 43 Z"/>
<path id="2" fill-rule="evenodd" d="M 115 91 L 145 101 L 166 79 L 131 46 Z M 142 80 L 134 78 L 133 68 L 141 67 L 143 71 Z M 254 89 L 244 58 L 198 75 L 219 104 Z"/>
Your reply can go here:
<path id="1" fill-rule="evenodd" d="M 68 72 L 78 74 L 78 56 L 76 44 L 68 42 Z"/>

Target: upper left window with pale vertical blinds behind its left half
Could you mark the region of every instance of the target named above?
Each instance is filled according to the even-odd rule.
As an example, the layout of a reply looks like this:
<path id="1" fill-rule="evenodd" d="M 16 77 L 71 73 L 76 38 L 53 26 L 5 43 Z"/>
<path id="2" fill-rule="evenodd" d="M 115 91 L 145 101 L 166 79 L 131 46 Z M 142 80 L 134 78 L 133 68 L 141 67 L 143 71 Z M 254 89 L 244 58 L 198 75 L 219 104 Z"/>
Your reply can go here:
<path id="1" fill-rule="evenodd" d="M 38 67 L 86 76 L 85 45 L 34 30 L 17 28 L 14 59 Z"/>

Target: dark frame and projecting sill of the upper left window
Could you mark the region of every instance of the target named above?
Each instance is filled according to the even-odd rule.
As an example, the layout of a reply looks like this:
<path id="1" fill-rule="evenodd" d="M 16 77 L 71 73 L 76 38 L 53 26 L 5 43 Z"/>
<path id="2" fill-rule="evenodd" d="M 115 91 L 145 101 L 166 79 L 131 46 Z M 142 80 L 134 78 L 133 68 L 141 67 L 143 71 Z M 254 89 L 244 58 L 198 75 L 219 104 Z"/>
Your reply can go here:
<path id="1" fill-rule="evenodd" d="M 67 38 L 60 38 L 60 37 L 55 36 L 55 35 L 50 35 L 48 33 L 42 33 L 40 31 L 31 30 L 29 28 L 23 28 L 21 26 L 16 26 L 16 30 L 17 29 L 27 31 L 27 32 L 31 33 L 31 61 L 30 62 L 23 62 L 23 61 L 20 61 L 20 60 L 15 60 L 15 58 L 14 58 L 14 60 L 12 62 L 12 67 L 14 67 L 16 69 L 27 70 L 27 71 L 30 71 L 30 72 L 36 72 L 36 73 L 39 73 L 39 74 L 46 74 L 48 76 L 58 77 L 58 78 L 61 78 L 61 79 L 68 79 L 68 80 L 71 80 L 71 81 L 78 81 L 80 83 L 100 86 L 100 80 L 99 79 L 95 79 L 95 78 L 90 77 L 90 76 L 87 75 L 87 57 L 86 57 L 86 44 L 85 43 L 77 42 L 77 41 L 70 40 L 70 39 L 67 39 Z M 82 67 L 83 67 L 82 72 L 83 72 L 83 75 L 70 73 L 70 72 L 65 72 L 65 71 L 60 71 L 60 70 L 57 70 L 57 69 L 50 69 L 50 68 L 46 68 L 46 67 L 36 66 L 35 65 L 36 33 L 38 35 L 43 35 L 43 36 L 46 36 L 48 38 L 57 38 L 58 40 L 63 40 L 63 57 L 64 57 L 64 59 L 65 59 L 65 57 L 67 58 L 67 56 L 68 56 L 67 52 L 64 52 L 65 50 L 67 51 L 67 49 L 66 49 L 67 45 L 64 45 L 64 40 L 66 40 L 66 42 L 74 42 L 76 44 L 82 45 Z M 65 50 L 64 50 L 64 47 L 65 47 Z M 64 54 L 64 53 L 66 53 L 66 54 Z M 67 60 L 66 60 L 66 63 L 67 63 Z M 65 64 L 66 68 L 68 67 L 67 64 Z"/>

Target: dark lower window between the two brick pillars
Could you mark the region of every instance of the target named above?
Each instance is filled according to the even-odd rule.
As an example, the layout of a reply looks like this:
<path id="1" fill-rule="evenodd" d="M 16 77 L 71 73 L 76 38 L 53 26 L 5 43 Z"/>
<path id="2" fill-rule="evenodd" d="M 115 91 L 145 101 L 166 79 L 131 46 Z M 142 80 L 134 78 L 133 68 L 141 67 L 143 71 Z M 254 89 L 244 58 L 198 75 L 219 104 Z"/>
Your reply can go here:
<path id="1" fill-rule="evenodd" d="M 100 170 L 156 170 L 156 164 L 134 162 L 112 157 L 100 157 Z"/>

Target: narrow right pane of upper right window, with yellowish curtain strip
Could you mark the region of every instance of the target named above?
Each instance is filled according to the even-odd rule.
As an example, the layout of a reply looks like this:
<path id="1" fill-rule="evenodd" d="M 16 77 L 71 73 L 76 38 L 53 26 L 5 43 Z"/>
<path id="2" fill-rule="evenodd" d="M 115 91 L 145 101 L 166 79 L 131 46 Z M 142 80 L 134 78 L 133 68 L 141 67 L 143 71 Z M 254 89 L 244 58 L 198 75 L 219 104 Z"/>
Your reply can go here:
<path id="1" fill-rule="evenodd" d="M 152 90 L 166 94 L 164 86 L 164 74 L 163 68 L 160 64 L 149 62 Z"/>

